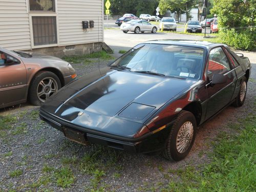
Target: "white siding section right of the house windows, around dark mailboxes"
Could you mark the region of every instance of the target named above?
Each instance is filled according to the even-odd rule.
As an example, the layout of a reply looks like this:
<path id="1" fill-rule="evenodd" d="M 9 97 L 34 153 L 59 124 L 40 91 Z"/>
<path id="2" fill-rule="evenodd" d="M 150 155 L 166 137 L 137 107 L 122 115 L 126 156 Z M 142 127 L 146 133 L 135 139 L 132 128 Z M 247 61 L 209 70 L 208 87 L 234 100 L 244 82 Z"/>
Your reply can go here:
<path id="1" fill-rule="evenodd" d="M 103 41 L 102 1 L 57 0 L 59 46 Z M 93 20 L 94 28 L 84 31 L 83 20 Z"/>

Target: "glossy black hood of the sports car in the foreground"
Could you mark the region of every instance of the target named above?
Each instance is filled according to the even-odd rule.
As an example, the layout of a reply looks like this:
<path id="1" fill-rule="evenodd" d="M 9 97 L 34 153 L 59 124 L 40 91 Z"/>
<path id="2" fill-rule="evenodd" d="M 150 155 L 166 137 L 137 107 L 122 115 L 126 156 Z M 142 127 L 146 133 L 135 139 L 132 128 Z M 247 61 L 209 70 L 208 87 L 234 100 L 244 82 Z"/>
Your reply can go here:
<path id="1" fill-rule="evenodd" d="M 195 82 L 107 70 L 70 83 L 41 110 L 79 126 L 134 137 L 161 106 Z"/>

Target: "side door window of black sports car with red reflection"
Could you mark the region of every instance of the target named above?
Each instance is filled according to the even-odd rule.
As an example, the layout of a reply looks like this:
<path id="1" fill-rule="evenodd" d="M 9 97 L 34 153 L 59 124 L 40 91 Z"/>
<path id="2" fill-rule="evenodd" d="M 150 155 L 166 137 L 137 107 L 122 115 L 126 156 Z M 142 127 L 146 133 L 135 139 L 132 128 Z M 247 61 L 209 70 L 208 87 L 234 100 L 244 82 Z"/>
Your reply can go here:
<path id="1" fill-rule="evenodd" d="M 212 79 L 215 73 L 225 74 L 230 71 L 228 59 L 221 47 L 212 49 L 209 54 L 208 77 Z"/>

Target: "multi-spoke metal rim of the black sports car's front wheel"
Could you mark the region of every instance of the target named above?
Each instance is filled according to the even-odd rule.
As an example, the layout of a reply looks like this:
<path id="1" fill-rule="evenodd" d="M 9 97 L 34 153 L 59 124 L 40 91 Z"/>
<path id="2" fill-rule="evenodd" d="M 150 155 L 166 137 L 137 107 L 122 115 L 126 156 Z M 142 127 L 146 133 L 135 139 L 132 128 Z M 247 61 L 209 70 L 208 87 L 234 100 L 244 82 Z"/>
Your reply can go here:
<path id="1" fill-rule="evenodd" d="M 182 154 L 187 151 L 194 135 L 194 127 L 190 121 L 186 121 L 180 127 L 176 138 L 176 149 L 177 152 Z"/>

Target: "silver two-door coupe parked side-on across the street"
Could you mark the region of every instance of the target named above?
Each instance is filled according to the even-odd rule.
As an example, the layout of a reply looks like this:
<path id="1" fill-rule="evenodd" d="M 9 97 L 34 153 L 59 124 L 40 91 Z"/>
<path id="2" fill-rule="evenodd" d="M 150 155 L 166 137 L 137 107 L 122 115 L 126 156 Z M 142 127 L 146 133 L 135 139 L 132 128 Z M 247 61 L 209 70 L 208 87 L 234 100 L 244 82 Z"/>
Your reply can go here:
<path id="1" fill-rule="evenodd" d="M 128 31 L 133 31 L 134 33 L 144 33 L 144 32 L 152 32 L 156 33 L 157 32 L 157 26 L 153 25 L 146 20 L 142 19 L 135 19 L 131 20 L 130 22 L 123 23 L 120 26 L 120 29 L 124 32 L 127 33 Z"/>

